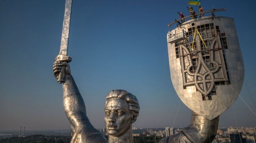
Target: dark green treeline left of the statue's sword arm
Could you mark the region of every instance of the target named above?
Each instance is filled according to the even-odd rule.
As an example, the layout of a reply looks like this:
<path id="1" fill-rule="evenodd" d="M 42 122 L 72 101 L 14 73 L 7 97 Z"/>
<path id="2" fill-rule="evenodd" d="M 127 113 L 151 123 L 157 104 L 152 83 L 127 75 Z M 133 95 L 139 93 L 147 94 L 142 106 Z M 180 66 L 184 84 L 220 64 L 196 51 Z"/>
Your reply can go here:
<path id="1" fill-rule="evenodd" d="M 0 139 L 0 143 L 69 143 L 71 136 L 32 135 L 27 137 L 11 137 Z"/>

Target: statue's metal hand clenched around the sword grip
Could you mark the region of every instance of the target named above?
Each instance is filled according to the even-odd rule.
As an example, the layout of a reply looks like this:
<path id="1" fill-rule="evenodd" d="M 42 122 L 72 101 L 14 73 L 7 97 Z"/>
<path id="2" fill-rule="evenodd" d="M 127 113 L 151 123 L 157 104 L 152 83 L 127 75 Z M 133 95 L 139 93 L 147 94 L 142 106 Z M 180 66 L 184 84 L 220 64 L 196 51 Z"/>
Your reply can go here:
<path id="1" fill-rule="evenodd" d="M 62 68 L 64 67 L 64 68 Z M 64 70 L 64 72 L 62 71 Z M 65 78 L 69 75 L 71 75 L 71 70 L 70 70 L 70 66 L 67 62 L 63 62 L 63 61 L 54 61 L 53 63 L 53 74 L 55 76 L 55 78 L 58 79 L 58 76 L 60 75 L 60 72 L 63 72 L 65 75 Z"/>

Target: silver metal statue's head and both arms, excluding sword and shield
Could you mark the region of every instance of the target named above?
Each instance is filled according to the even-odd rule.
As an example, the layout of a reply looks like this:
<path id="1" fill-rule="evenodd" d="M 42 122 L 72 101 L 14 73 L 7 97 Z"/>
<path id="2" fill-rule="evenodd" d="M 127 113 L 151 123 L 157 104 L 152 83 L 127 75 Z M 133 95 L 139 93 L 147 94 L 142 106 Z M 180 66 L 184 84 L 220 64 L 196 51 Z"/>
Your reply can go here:
<path id="1" fill-rule="evenodd" d="M 65 67 L 63 106 L 71 126 L 71 143 L 107 143 L 105 137 L 95 129 L 86 116 L 86 107 L 77 85 L 71 76 L 67 62 L 55 61 L 54 76 L 58 79 Z M 62 75 L 63 76 L 63 75 Z M 105 125 L 109 143 L 133 143 L 132 123 L 139 114 L 136 96 L 124 90 L 112 90 L 106 96 Z M 178 134 L 164 138 L 160 143 L 204 143 L 215 138 L 219 116 L 206 119 L 192 112 L 191 125 Z"/>

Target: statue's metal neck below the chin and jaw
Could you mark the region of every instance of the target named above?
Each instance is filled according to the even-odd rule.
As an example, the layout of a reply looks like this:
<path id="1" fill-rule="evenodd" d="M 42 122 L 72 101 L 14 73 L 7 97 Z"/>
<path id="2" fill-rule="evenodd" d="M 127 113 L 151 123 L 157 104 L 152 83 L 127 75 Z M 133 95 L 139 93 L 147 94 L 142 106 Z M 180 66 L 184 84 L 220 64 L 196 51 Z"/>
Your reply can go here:
<path id="1" fill-rule="evenodd" d="M 130 127 L 125 134 L 120 137 L 108 136 L 108 143 L 134 143 L 133 141 L 133 130 Z"/>

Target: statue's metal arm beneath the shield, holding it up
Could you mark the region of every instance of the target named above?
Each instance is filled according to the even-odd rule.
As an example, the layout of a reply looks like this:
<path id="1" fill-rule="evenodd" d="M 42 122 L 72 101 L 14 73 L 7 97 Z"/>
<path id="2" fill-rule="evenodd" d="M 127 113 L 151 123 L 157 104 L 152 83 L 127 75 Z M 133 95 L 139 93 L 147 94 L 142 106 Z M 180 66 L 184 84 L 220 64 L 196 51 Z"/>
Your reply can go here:
<path id="1" fill-rule="evenodd" d="M 159 143 L 211 143 L 217 134 L 219 116 L 209 120 L 192 112 L 191 125 Z"/>

